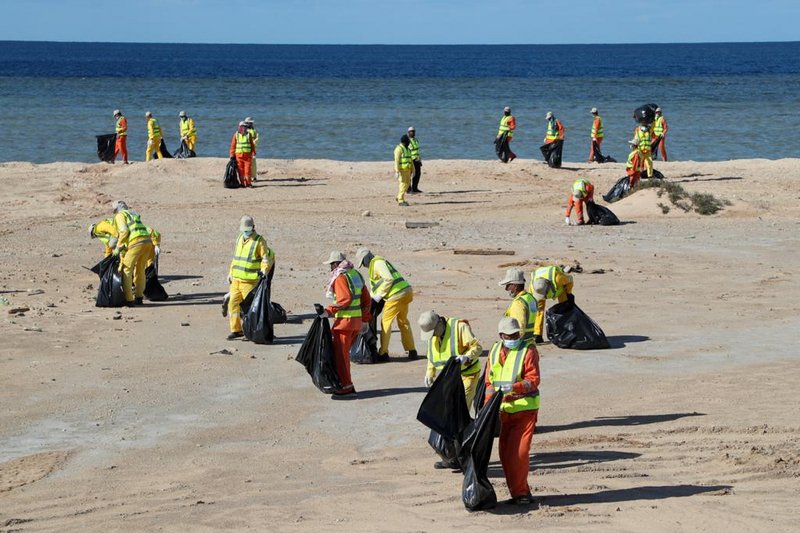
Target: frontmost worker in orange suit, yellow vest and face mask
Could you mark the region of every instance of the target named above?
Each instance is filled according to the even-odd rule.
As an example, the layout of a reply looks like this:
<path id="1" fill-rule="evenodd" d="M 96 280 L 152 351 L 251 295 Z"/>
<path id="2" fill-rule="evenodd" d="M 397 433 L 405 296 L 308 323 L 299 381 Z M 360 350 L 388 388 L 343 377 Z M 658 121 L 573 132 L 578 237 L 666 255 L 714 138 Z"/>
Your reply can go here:
<path id="1" fill-rule="evenodd" d="M 486 361 L 486 400 L 503 392 L 500 404 L 500 464 L 506 475 L 511 502 L 533 503 L 528 485 L 531 440 L 539 418 L 539 352 L 522 338 L 516 319 L 503 317 L 497 325 L 500 340 L 489 351 Z"/>

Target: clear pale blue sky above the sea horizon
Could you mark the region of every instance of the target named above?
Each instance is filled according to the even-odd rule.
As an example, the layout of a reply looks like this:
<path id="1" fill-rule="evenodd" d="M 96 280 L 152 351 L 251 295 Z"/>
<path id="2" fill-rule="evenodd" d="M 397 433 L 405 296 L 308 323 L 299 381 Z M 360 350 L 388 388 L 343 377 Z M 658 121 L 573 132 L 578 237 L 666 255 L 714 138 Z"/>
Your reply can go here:
<path id="1" fill-rule="evenodd" d="M 0 0 L 0 40 L 20 41 L 798 41 L 798 20 L 798 0 Z"/>

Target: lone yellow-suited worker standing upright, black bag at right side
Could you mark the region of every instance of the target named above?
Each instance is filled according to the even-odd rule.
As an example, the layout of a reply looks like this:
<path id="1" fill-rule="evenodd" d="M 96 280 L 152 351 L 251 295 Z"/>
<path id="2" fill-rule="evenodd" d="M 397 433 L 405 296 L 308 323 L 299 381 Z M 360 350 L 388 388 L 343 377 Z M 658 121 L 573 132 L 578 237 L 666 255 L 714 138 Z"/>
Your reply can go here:
<path id="1" fill-rule="evenodd" d="M 239 221 L 239 236 L 233 259 L 228 270 L 228 321 L 231 332 L 228 340 L 244 337 L 242 333 L 242 319 L 239 316 L 242 301 L 247 298 L 258 281 L 263 277 L 271 281 L 275 269 L 275 252 L 267 246 L 267 241 L 256 233 L 253 217 L 245 215 Z"/>

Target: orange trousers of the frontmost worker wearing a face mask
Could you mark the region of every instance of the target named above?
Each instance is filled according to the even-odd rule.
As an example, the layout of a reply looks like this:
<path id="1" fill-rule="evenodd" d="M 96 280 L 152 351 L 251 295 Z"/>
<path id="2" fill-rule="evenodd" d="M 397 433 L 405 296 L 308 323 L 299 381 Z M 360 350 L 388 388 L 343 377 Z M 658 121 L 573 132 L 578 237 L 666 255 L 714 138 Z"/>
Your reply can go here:
<path id="1" fill-rule="evenodd" d="M 528 472 L 530 471 L 531 440 L 536 429 L 539 410 L 500 413 L 500 441 L 498 451 L 506 484 L 512 498 L 530 494 Z"/>

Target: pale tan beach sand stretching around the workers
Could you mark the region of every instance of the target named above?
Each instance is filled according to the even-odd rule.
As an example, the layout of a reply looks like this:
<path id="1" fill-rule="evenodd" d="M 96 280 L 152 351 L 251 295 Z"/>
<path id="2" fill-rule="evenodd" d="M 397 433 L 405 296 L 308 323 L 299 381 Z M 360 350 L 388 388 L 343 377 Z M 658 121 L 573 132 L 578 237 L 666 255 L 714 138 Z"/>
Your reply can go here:
<path id="1" fill-rule="evenodd" d="M 800 160 L 657 162 L 731 205 L 663 214 L 644 190 L 610 206 L 617 227 L 567 227 L 563 210 L 573 180 L 599 200 L 620 163 L 425 161 L 408 208 L 390 162 L 260 160 L 253 190 L 223 189 L 225 163 L 0 164 L 0 531 L 797 527 Z M 94 307 L 88 227 L 115 199 L 162 232 L 169 301 Z M 245 213 L 277 254 L 273 299 L 303 319 L 273 346 L 225 340 Z M 355 401 L 321 394 L 293 360 L 324 302 L 322 261 L 364 245 L 414 286 L 414 323 L 428 309 L 469 319 L 485 349 L 505 268 L 582 266 L 577 302 L 612 348 L 539 347 L 538 507 L 464 509 L 462 476 L 432 468 L 415 420 L 425 362 L 402 357 L 397 333 L 391 363 L 353 367 Z M 496 446 L 489 474 L 507 499 Z"/>

